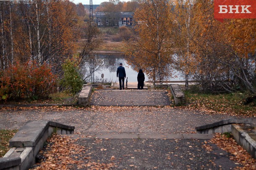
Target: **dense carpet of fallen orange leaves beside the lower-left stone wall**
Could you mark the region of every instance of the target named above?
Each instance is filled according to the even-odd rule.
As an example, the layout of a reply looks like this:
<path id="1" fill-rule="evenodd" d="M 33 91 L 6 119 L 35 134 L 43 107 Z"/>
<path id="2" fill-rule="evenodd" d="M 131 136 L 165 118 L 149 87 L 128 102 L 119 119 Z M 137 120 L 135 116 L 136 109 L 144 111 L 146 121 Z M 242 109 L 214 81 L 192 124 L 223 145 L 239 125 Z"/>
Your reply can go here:
<path id="1" fill-rule="evenodd" d="M 115 163 L 100 163 L 91 161 L 91 157 L 84 157 L 85 148 L 76 144 L 76 140 L 65 135 L 54 134 L 47 140 L 48 145 L 42 154 L 46 159 L 34 168 L 35 170 L 45 169 L 110 169 L 117 167 Z M 112 156 L 110 160 L 114 160 Z"/>

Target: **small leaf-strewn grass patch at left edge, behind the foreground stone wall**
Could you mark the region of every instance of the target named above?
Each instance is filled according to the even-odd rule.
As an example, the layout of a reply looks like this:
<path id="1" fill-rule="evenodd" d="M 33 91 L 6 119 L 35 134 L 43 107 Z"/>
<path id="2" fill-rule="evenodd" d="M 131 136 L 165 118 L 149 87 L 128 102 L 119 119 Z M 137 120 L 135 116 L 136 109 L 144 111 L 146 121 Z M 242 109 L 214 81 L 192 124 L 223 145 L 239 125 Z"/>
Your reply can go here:
<path id="1" fill-rule="evenodd" d="M 17 131 L 18 130 L 0 129 L 0 157 L 3 157 L 5 153 L 10 149 L 9 140 Z"/>

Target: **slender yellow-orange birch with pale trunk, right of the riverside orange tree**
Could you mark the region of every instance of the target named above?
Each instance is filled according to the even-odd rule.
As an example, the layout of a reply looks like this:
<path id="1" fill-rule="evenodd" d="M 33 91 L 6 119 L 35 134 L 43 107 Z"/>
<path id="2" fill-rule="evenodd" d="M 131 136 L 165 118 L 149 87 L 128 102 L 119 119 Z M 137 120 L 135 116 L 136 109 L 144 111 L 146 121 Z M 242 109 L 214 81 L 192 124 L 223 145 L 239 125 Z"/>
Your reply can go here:
<path id="1" fill-rule="evenodd" d="M 174 22 L 172 33 L 175 36 L 175 68 L 181 71 L 185 78 L 185 89 L 188 89 L 188 79 L 195 71 L 195 56 L 191 43 L 198 31 L 198 25 L 193 15 L 193 0 L 171 1 L 173 10 L 170 12 Z"/>

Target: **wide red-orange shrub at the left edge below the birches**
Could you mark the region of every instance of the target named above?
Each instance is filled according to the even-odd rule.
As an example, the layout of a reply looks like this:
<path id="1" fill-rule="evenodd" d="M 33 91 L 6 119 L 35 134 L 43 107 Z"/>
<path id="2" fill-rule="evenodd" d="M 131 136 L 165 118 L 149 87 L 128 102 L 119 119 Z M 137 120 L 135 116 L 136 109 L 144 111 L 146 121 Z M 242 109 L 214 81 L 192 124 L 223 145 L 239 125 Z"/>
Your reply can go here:
<path id="1" fill-rule="evenodd" d="M 44 98 L 56 91 L 56 76 L 50 66 L 16 63 L 0 72 L 0 99 Z"/>

